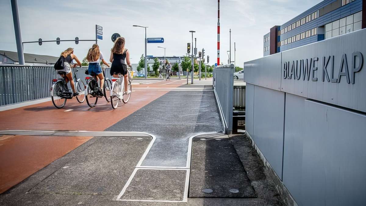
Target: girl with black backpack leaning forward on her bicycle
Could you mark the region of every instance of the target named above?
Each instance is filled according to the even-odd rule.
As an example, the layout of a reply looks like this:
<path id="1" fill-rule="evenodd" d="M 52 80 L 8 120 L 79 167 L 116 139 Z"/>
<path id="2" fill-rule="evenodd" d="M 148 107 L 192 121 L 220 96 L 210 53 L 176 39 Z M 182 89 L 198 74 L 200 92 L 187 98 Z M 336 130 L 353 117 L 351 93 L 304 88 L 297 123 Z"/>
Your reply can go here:
<path id="1" fill-rule="evenodd" d="M 71 88 L 72 88 L 72 92 L 74 93 L 73 96 L 77 96 L 78 93 L 75 93 L 75 85 L 74 85 L 74 79 L 72 79 L 72 71 L 71 71 L 71 63 L 72 63 L 72 60 L 75 59 L 76 61 L 76 64 L 74 64 L 74 68 L 76 66 L 81 66 L 81 62 L 79 61 L 78 57 L 76 57 L 74 55 L 74 49 L 73 48 L 68 48 L 66 50 L 64 50 L 60 56 L 63 56 L 65 59 L 64 59 L 64 69 L 63 70 L 59 70 L 59 71 L 64 71 L 66 72 L 66 83 L 70 81 L 70 85 L 71 85 Z"/>

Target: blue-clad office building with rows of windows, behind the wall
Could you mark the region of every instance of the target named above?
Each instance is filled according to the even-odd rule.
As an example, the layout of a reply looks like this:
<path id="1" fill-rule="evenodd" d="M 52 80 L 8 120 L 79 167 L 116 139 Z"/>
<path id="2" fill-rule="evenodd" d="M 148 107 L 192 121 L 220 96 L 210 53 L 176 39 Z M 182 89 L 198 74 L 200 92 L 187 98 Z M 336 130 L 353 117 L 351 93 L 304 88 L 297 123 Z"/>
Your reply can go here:
<path id="1" fill-rule="evenodd" d="M 324 0 L 264 35 L 263 55 L 293 49 L 366 27 L 366 0 Z"/>

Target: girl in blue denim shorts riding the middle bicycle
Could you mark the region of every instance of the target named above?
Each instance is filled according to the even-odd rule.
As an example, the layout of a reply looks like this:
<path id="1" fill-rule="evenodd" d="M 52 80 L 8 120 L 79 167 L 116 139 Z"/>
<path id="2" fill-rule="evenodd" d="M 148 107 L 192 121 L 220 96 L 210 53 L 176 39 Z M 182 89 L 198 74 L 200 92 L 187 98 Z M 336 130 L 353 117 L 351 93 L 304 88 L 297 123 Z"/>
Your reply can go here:
<path id="1" fill-rule="evenodd" d="M 103 96 L 102 88 L 104 86 L 104 76 L 102 68 L 100 67 L 100 60 L 103 64 L 109 67 L 109 64 L 104 60 L 102 52 L 99 50 L 99 46 L 97 44 L 93 44 L 93 46 L 89 49 L 86 59 L 89 61 L 88 73 L 96 74 L 97 78 L 100 79 L 100 90 L 97 92 L 97 95 Z"/>

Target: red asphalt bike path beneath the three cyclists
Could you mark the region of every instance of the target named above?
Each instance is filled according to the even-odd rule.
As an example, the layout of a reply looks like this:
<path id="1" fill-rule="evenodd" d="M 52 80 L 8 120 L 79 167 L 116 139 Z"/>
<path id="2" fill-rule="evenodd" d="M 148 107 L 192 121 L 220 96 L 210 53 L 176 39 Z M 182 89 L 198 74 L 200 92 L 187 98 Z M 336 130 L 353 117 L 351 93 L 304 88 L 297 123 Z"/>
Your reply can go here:
<path id="1" fill-rule="evenodd" d="M 132 85 L 127 104 L 112 109 L 111 103 L 99 98 L 94 108 L 86 101 L 79 104 L 75 98 L 67 100 L 62 109 L 52 101 L 0 112 L 0 130 L 70 130 L 104 131 L 124 117 L 156 100 L 185 80 L 161 80 L 148 85 Z M 138 90 L 134 91 L 134 88 Z M 148 88 L 143 90 L 143 88 Z M 140 131 L 143 132 L 143 131 Z M 0 136 L 0 194 L 20 183 L 33 173 L 82 145 L 91 136 Z"/>

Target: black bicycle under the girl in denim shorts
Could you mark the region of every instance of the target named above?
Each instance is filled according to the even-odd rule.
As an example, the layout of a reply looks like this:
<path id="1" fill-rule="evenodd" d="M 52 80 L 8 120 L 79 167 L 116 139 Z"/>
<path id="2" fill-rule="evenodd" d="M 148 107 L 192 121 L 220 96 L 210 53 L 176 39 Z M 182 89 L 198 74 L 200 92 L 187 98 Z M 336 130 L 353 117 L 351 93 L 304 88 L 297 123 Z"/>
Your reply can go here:
<path id="1" fill-rule="evenodd" d="M 107 100 L 107 102 L 110 102 L 110 92 L 111 92 L 111 88 L 112 88 L 112 81 L 105 77 L 105 72 L 104 72 L 104 67 L 102 68 L 103 71 L 103 76 L 104 76 L 104 85 L 103 85 L 103 94 L 105 97 L 105 100 Z M 102 96 L 98 96 L 96 95 L 96 92 L 98 90 L 100 90 L 100 87 L 98 86 L 98 81 L 96 78 L 96 74 L 89 74 L 90 76 L 85 77 L 86 80 L 86 87 L 85 87 L 85 97 L 86 97 L 86 103 L 90 106 L 90 107 L 94 107 L 97 105 L 97 101 L 98 98 L 102 98 Z M 91 96 L 89 96 L 91 95 Z M 95 98 L 95 101 L 93 101 L 92 98 Z"/>

